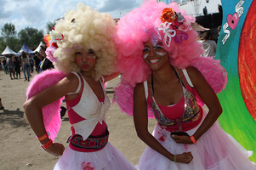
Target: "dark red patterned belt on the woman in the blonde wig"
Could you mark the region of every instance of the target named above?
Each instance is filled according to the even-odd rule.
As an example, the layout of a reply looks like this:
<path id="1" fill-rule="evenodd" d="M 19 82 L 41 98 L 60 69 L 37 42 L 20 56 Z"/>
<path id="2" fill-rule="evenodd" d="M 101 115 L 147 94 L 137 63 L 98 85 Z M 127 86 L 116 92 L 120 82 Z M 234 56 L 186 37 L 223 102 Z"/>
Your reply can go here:
<path id="1" fill-rule="evenodd" d="M 107 144 L 109 138 L 109 131 L 105 130 L 105 134 L 101 136 L 88 136 L 88 139 L 83 140 L 82 136 L 79 134 L 75 134 L 71 136 L 69 139 L 70 147 L 73 150 L 84 151 L 84 152 L 92 152 L 97 150 L 102 150 Z"/>

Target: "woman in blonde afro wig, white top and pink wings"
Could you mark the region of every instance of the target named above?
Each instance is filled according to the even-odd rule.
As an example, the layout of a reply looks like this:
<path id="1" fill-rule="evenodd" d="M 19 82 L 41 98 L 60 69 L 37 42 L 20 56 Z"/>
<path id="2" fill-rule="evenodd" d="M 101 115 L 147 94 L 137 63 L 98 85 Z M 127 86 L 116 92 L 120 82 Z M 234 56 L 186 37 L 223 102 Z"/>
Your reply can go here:
<path id="1" fill-rule="evenodd" d="M 108 142 L 105 113 L 110 100 L 103 85 L 119 75 L 116 23 L 110 14 L 78 3 L 58 20 L 46 53 L 58 70 L 43 71 L 27 89 L 24 109 L 41 147 L 61 156 L 54 170 L 133 170 L 134 166 Z M 71 137 L 67 148 L 54 143 L 60 129 L 65 96 Z"/>

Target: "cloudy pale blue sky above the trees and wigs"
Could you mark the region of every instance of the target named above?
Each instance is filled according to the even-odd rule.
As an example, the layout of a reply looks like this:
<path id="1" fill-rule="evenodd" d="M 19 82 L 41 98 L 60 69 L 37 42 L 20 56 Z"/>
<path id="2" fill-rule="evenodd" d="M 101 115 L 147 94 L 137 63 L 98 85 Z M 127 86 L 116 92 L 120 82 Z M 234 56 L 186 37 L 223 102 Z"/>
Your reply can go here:
<path id="1" fill-rule="evenodd" d="M 26 26 L 43 30 L 49 21 L 59 19 L 66 9 L 75 9 L 77 3 L 84 3 L 113 18 L 121 17 L 138 8 L 143 0 L 0 0 L 0 29 L 5 23 L 14 24 L 19 32 Z"/>

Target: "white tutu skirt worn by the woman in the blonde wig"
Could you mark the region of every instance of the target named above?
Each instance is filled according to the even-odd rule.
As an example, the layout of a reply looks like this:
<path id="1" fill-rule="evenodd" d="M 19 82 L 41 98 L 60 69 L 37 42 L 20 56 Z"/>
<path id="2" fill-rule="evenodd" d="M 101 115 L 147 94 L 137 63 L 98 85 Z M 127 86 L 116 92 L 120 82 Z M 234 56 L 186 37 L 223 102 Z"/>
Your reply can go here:
<path id="1" fill-rule="evenodd" d="M 88 168 L 86 167 L 88 164 Z M 133 170 L 135 167 L 110 143 L 96 152 L 79 152 L 70 147 L 56 163 L 54 170 Z"/>

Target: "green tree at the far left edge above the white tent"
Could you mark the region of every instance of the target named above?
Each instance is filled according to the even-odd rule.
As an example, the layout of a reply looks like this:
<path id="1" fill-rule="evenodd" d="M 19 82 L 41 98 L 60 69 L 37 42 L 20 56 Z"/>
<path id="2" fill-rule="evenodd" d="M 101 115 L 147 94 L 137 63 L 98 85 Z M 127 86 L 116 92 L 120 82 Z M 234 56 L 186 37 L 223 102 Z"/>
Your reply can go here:
<path id="1" fill-rule="evenodd" d="M 17 31 L 12 23 L 6 23 L 3 26 L 3 28 L 1 29 L 1 35 L 3 40 L 1 40 L 2 45 L 0 48 L 2 48 L 2 46 L 4 48 L 6 46 L 9 46 L 9 48 L 13 49 L 15 52 L 19 50 L 19 40 L 17 38 Z"/>

